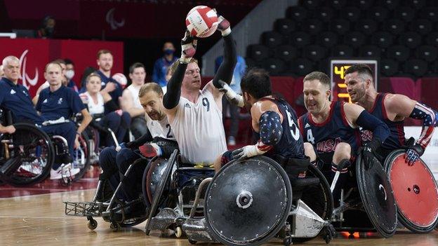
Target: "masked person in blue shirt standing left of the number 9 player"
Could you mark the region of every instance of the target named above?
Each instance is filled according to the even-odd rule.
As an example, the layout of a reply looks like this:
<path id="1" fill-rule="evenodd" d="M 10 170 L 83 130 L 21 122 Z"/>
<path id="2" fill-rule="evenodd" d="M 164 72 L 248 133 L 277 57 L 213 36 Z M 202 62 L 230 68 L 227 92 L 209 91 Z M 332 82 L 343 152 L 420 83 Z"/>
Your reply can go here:
<path id="1" fill-rule="evenodd" d="M 154 64 L 154 71 L 152 71 L 152 81 L 159 83 L 161 87 L 166 86 L 166 73 L 168 67 L 173 64 L 178 58 L 173 55 L 175 47 L 173 43 L 166 42 L 163 45 L 164 56 L 159 58 Z"/>

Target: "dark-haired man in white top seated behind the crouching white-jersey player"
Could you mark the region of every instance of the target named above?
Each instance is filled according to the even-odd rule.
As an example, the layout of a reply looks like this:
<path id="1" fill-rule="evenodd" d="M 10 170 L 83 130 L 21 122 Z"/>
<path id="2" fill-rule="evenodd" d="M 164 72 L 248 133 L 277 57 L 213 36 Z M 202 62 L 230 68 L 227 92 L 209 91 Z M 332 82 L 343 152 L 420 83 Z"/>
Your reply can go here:
<path id="1" fill-rule="evenodd" d="M 129 68 L 129 78 L 131 78 L 131 86 L 124 90 L 121 100 L 121 109 L 127 111 L 131 115 L 131 132 L 135 139 L 147 133 L 147 125 L 145 118 L 145 110 L 140 104 L 138 92 L 145 84 L 146 71 L 145 65 L 140 62 L 135 62 Z"/>

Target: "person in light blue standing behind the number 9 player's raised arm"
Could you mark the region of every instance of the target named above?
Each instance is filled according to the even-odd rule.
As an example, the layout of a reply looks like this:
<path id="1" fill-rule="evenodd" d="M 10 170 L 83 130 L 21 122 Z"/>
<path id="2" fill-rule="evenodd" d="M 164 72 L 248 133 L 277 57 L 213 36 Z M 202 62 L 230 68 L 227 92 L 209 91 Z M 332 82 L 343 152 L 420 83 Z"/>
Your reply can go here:
<path id="1" fill-rule="evenodd" d="M 234 42 L 235 43 L 235 42 Z M 216 58 L 215 60 L 215 71 L 218 71 L 218 68 L 220 64 L 223 62 L 223 56 L 220 56 Z M 236 92 L 241 93 L 240 90 L 240 81 L 242 76 L 244 76 L 246 69 L 246 63 L 244 57 L 241 57 L 240 55 L 237 55 L 237 64 L 234 68 L 234 73 L 232 77 L 232 81 L 230 83 L 230 87 Z M 228 102 L 226 97 L 223 97 L 223 118 L 225 119 L 225 116 L 227 116 L 227 111 L 230 111 L 230 132 L 228 133 L 228 141 L 227 144 L 230 146 L 236 145 L 236 136 L 237 132 L 239 131 L 239 113 L 240 109 L 237 107 L 237 105 L 230 104 Z"/>

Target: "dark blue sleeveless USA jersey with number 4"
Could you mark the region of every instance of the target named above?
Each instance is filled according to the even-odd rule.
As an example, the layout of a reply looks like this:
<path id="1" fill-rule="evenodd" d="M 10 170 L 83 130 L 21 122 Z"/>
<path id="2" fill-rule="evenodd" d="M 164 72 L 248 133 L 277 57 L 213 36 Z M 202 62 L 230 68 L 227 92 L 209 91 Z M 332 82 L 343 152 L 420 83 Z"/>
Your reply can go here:
<path id="1" fill-rule="evenodd" d="M 323 123 L 315 123 L 309 113 L 300 117 L 300 131 L 305 142 L 310 142 L 317 154 L 335 152 L 340 142 L 350 144 L 356 153 L 360 146 L 360 132 L 352 128 L 345 118 L 345 102 L 331 102 L 330 114 Z"/>

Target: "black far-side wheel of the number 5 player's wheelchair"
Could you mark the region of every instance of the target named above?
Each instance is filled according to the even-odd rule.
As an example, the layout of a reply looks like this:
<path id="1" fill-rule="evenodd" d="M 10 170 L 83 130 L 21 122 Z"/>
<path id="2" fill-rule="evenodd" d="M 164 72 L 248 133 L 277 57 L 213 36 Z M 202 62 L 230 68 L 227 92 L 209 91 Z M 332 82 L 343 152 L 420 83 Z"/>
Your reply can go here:
<path id="1" fill-rule="evenodd" d="M 314 165 L 309 165 L 306 176 L 319 178 L 319 184 L 306 187 L 303 195 L 301 195 L 301 200 L 319 217 L 324 220 L 330 220 L 333 214 L 333 196 L 327 179 Z M 291 238 L 292 242 L 307 242 L 312 239 L 314 238 Z"/>

